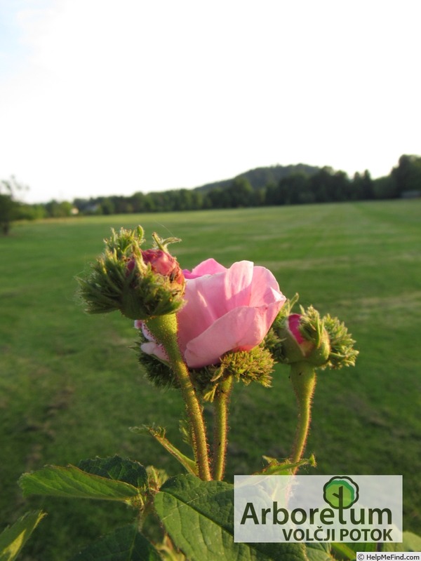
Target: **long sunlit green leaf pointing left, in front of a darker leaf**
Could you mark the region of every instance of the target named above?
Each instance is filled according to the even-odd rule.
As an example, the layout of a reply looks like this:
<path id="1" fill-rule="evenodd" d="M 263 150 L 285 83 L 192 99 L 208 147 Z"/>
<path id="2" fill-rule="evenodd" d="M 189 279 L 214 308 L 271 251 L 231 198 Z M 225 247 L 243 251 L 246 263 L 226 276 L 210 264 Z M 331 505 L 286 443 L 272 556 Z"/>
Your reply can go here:
<path id="1" fill-rule="evenodd" d="M 142 500 L 140 489 L 123 481 L 86 473 L 76 466 L 45 466 L 24 473 L 19 485 L 25 496 L 30 494 L 66 496 L 78 499 L 104 499 L 135 504 Z"/>

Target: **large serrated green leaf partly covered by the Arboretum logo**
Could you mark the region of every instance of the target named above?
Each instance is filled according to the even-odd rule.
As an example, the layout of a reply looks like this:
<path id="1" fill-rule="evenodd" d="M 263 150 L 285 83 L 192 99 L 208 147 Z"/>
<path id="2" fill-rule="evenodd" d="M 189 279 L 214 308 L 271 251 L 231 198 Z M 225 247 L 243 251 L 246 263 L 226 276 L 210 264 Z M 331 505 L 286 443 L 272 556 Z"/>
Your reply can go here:
<path id="1" fill-rule="evenodd" d="M 302 543 L 234 543 L 234 487 L 194 475 L 167 480 L 156 513 L 189 561 L 307 561 Z"/>

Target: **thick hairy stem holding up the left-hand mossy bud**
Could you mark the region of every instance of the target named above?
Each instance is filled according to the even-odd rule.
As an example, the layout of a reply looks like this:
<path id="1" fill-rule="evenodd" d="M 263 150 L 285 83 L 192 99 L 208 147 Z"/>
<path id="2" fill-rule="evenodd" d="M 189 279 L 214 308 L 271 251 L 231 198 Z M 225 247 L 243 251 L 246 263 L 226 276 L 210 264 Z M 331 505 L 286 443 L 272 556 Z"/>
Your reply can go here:
<path id="1" fill-rule="evenodd" d="M 166 316 L 156 316 L 147 320 L 147 328 L 156 341 L 162 344 L 171 363 L 171 368 L 180 384 L 182 397 L 187 409 L 187 417 L 192 428 L 193 452 L 197 464 L 199 478 L 209 481 L 210 467 L 208 457 L 208 442 L 203 420 L 201 405 L 194 391 L 189 370 L 182 359 L 177 339 L 177 316 L 175 313 Z"/>

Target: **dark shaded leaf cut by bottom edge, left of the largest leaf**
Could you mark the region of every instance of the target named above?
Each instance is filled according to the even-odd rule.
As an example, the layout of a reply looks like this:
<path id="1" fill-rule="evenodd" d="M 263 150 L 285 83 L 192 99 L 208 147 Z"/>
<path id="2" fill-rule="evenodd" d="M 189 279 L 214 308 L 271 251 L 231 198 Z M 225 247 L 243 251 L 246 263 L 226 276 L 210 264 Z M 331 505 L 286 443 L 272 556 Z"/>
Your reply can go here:
<path id="1" fill-rule="evenodd" d="M 70 561 L 161 561 L 161 556 L 135 525 L 128 525 L 106 534 Z"/>

